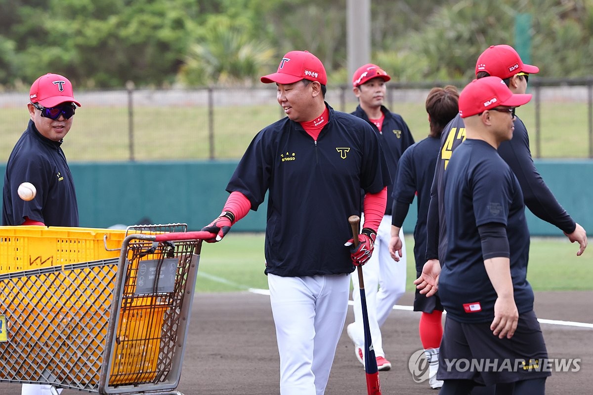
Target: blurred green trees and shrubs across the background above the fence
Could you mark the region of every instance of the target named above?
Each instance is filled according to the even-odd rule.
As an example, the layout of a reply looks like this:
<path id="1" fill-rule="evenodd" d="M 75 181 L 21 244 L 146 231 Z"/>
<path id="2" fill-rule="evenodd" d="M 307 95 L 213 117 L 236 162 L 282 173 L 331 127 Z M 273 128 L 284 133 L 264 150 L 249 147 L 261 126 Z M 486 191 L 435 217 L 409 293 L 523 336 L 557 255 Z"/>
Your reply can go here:
<path id="1" fill-rule="evenodd" d="M 541 76 L 593 66 L 593 0 L 371 0 L 372 61 L 396 81 L 471 78 L 491 44 L 531 15 Z M 349 81 L 344 0 L 0 0 L 0 86 L 46 72 L 78 86 L 250 84 L 289 50 Z"/>

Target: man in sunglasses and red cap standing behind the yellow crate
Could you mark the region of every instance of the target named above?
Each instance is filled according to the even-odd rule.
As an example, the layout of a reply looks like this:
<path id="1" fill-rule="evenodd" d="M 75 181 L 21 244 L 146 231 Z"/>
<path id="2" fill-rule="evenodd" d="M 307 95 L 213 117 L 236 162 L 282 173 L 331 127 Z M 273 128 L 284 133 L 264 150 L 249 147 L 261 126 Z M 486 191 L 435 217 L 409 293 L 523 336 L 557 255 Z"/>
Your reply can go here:
<path id="1" fill-rule="evenodd" d="M 2 224 L 78 226 L 74 181 L 60 146 L 80 103 L 74 99 L 68 78 L 52 73 L 33 82 L 29 100 L 31 119 L 6 166 Z M 18 196 L 18 186 L 25 181 L 37 189 L 33 200 Z M 50 386 L 23 384 L 22 395 L 50 394 Z"/>

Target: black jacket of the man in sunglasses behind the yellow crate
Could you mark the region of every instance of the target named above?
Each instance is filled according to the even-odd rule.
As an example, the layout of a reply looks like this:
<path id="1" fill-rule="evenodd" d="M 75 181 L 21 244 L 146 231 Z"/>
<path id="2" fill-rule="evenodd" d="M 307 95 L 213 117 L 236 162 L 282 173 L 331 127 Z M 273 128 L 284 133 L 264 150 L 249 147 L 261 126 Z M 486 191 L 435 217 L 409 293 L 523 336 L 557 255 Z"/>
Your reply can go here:
<path id="1" fill-rule="evenodd" d="M 74 180 L 60 144 L 42 136 L 29 121 L 8 158 L 2 193 L 3 225 L 21 225 L 28 217 L 46 226 L 78 226 Z M 25 181 L 37 190 L 31 201 L 18 197 L 18 186 Z"/>

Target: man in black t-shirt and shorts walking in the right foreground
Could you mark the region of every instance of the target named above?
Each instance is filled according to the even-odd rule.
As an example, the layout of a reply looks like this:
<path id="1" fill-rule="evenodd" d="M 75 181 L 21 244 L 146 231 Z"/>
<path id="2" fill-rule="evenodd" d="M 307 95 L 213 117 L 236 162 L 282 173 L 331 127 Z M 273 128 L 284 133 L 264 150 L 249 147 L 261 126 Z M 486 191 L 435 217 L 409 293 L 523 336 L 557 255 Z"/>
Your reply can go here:
<path id="1" fill-rule="evenodd" d="M 506 394 L 544 394 L 550 372 L 527 281 L 530 234 L 524 197 L 509 165 L 498 155 L 513 137 L 515 107 L 531 95 L 513 94 L 488 76 L 461 91 L 466 140 L 449 159 L 442 184 L 447 211 L 447 253 L 439 276 L 447 310 L 437 377 L 439 394 L 469 394 L 502 383 Z M 436 284 L 431 284 L 434 287 Z M 444 361 L 482 361 L 460 369 Z M 503 361 L 509 368 L 500 368 Z"/>

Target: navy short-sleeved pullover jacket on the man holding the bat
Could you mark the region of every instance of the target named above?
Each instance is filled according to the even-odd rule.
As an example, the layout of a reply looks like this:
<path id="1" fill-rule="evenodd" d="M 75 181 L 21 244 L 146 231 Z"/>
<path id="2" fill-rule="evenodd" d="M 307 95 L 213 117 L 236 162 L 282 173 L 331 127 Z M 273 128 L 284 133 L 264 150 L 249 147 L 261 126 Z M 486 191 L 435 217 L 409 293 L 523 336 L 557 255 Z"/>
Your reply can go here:
<path id="1" fill-rule="evenodd" d="M 327 105 L 327 104 L 326 104 Z M 390 182 L 371 127 L 329 107 L 317 142 L 288 117 L 260 131 L 227 186 L 257 210 L 269 192 L 266 274 L 299 277 L 354 270 L 348 217 L 360 214 L 360 190 L 378 193 Z"/>

